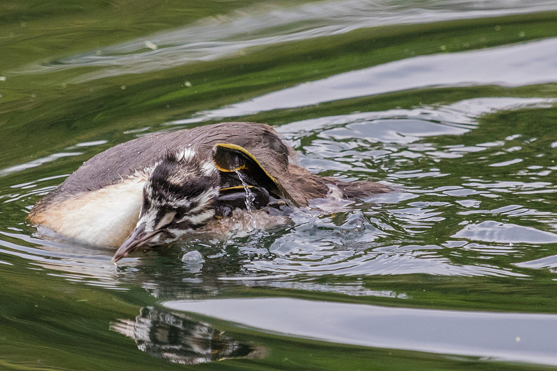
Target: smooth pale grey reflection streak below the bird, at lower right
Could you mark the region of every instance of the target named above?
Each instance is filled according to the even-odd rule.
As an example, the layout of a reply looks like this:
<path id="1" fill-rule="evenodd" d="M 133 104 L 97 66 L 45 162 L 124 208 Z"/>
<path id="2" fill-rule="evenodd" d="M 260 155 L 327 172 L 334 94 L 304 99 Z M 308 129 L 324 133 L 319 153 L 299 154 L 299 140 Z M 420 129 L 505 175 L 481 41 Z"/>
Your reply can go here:
<path id="1" fill-rule="evenodd" d="M 387 308 L 282 297 L 183 300 L 164 306 L 333 343 L 557 365 L 556 338 L 548 331 L 556 328 L 557 315 Z"/>

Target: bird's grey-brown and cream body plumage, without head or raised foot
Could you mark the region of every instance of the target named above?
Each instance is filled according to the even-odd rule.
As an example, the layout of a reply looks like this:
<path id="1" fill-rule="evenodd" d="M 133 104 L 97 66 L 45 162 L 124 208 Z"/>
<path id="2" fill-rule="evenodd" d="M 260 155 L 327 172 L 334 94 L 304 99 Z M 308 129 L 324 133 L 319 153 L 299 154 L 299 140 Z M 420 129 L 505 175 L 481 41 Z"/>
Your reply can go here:
<path id="1" fill-rule="evenodd" d="M 102 203 L 96 204 L 95 208 L 91 204 L 97 199 L 108 197 L 111 190 L 116 188 L 118 192 L 123 192 L 123 195 L 127 195 L 127 188 L 133 189 L 134 197 L 138 197 L 136 189 L 143 187 L 157 161 L 168 153 L 183 151 L 186 147 L 192 148 L 195 149 L 194 160 L 203 163 L 212 161 L 213 147 L 219 143 L 230 143 L 249 151 L 300 206 L 306 206 L 308 199 L 327 197 L 330 190 L 328 185 L 338 187 L 347 199 L 391 191 L 391 188 L 380 183 L 348 183 L 311 174 L 303 167 L 290 163 L 289 158 L 292 158 L 295 151 L 285 145 L 272 127 L 265 124 L 226 122 L 145 135 L 107 149 L 86 161 L 56 190 L 40 200 L 29 213 L 28 219 L 33 224 L 47 226 L 64 236 L 95 243 L 94 236 L 81 238 L 86 231 L 86 223 L 95 223 L 94 216 L 91 216 L 91 220 L 84 219 L 84 225 L 79 231 L 72 231 L 72 226 L 67 224 L 89 217 L 91 212 L 87 211 L 88 207 L 93 211 L 95 208 L 104 207 Z M 135 183 L 131 182 L 131 179 L 134 179 Z M 120 187 L 122 183 L 126 183 L 125 190 Z M 129 236 L 138 221 L 139 209 L 141 205 L 130 206 L 125 215 L 137 213 L 136 217 L 127 217 L 130 219 L 127 221 L 118 220 L 118 231 L 107 231 L 111 237 L 100 238 L 100 245 L 118 246 L 124 236 Z M 86 214 L 87 216 L 84 216 Z M 93 225 L 90 227 L 94 228 Z"/>

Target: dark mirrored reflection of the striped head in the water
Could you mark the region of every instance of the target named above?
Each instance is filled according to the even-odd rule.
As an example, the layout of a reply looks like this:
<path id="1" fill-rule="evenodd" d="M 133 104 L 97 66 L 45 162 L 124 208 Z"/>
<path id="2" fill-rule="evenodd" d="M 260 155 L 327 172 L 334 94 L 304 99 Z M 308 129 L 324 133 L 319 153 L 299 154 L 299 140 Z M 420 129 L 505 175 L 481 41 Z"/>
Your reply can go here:
<path id="1" fill-rule="evenodd" d="M 173 363 L 265 356 L 265 349 L 240 343 L 210 324 L 153 307 L 141 308 L 135 320 L 112 322 L 110 329 L 134 339 L 142 352 Z"/>

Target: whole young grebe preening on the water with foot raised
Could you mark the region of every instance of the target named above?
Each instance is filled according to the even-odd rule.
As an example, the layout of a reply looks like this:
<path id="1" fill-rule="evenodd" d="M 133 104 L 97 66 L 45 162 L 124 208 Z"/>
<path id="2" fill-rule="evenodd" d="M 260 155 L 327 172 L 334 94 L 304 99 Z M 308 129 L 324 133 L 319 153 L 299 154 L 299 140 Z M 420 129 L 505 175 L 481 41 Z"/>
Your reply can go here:
<path id="1" fill-rule="evenodd" d="M 155 133 L 88 160 L 29 214 L 33 224 L 92 245 L 137 247 L 188 233 L 219 233 L 235 211 L 306 206 L 308 199 L 366 197 L 389 187 L 311 174 L 264 124 L 230 122 Z M 275 213 L 276 214 L 276 213 Z"/>

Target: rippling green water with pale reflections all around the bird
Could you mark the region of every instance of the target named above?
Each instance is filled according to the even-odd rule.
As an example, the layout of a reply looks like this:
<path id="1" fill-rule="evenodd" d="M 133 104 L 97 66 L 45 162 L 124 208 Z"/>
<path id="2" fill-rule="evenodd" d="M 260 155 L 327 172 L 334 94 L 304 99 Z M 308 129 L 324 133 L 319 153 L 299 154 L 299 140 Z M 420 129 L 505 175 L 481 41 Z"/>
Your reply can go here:
<path id="1" fill-rule="evenodd" d="M 398 192 L 118 268 L 25 223 L 100 151 L 222 121 Z M 556 122 L 553 1 L 0 2 L 0 368 L 554 368 Z"/>

